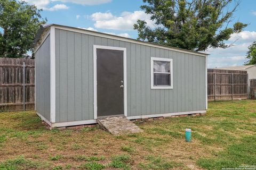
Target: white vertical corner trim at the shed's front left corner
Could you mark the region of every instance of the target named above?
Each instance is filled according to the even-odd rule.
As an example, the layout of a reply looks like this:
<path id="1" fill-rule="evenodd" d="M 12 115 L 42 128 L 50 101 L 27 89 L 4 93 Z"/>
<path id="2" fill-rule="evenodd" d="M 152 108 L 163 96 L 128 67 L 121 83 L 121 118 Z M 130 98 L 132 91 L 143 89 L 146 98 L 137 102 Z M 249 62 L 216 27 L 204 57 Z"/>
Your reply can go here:
<path id="1" fill-rule="evenodd" d="M 55 123 L 55 91 L 56 91 L 56 87 L 55 87 L 55 27 L 51 26 L 51 30 L 50 30 L 50 63 L 51 63 L 51 75 L 50 75 L 50 84 L 51 84 L 51 89 L 50 89 L 50 101 L 51 101 L 51 123 Z"/>

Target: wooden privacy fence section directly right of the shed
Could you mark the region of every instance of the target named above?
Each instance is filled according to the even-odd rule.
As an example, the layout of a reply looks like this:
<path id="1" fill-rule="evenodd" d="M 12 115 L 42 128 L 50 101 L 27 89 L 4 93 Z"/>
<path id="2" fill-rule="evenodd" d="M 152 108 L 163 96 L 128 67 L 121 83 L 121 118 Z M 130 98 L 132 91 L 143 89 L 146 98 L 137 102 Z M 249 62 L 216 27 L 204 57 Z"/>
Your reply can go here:
<path id="1" fill-rule="evenodd" d="M 208 69 L 208 100 L 248 98 L 247 71 Z"/>

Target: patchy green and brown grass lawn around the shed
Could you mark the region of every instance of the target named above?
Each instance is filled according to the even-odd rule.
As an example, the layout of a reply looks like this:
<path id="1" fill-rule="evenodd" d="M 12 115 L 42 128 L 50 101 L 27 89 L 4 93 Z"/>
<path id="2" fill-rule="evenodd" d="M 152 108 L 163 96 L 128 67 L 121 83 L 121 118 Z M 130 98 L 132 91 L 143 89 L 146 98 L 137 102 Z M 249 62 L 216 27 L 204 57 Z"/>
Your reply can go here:
<path id="1" fill-rule="evenodd" d="M 209 103 L 205 116 L 138 123 L 114 137 L 98 128 L 46 130 L 35 112 L 0 113 L 0 169 L 221 169 L 256 166 L 256 100 Z M 185 142 L 185 129 L 192 141 Z"/>

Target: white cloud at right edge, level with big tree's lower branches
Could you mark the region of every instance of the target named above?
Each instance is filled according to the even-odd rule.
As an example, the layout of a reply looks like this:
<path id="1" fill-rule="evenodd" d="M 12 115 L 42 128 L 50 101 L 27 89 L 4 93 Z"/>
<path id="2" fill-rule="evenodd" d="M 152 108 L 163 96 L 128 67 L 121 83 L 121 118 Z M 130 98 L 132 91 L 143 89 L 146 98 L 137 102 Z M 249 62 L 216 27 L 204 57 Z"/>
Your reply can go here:
<path id="1" fill-rule="evenodd" d="M 242 31 L 239 33 L 233 33 L 229 39 L 230 41 L 245 41 L 252 42 L 256 40 L 256 32 L 255 31 Z"/>

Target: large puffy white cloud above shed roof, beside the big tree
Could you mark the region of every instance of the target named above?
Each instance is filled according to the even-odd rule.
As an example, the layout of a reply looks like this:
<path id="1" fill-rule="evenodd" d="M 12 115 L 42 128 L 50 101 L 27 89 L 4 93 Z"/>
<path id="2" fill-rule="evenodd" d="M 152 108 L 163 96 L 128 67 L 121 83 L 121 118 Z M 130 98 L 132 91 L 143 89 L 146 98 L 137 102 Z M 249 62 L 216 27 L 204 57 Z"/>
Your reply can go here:
<path id="1" fill-rule="evenodd" d="M 113 30 L 133 30 L 133 24 L 138 19 L 145 20 L 149 27 L 154 27 L 154 22 L 150 20 L 150 15 L 143 11 L 123 12 L 120 16 L 114 16 L 110 12 L 97 12 L 91 15 L 95 21 L 95 28 L 113 29 Z"/>

